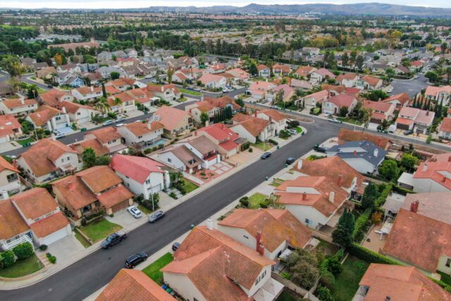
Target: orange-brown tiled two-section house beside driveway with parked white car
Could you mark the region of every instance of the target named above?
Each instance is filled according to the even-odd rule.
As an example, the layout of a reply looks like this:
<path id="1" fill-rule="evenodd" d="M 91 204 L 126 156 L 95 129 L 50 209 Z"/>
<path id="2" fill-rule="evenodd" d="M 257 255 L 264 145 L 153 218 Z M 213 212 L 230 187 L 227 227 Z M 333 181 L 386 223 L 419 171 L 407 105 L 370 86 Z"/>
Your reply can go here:
<path id="1" fill-rule="evenodd" d="M 79 225 L 83 216 L 111 215 L 133 204 L 133 194 L 109 166 L 94 166 L 51 183 L 56 201 Z M 81 221 L 80 221 L 81 222 Z"/>

